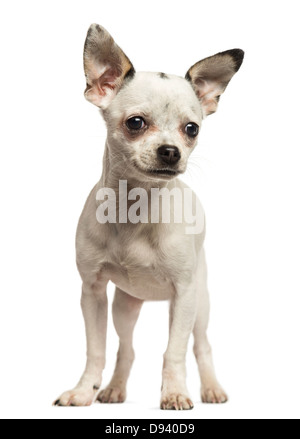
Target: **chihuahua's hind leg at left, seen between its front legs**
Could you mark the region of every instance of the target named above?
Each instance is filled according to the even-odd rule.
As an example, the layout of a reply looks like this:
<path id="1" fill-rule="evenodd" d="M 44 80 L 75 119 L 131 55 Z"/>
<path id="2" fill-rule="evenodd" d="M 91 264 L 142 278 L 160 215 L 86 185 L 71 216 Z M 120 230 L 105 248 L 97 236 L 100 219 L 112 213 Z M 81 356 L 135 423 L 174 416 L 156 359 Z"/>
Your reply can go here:
<path id="1" fill-rule="evenodd" d="M 102 403 L 121 403 L 126 399 L 126 385 L 134 361 L 132 345 L 133 331 L 140 314 L 143 301 L 116 289 L 113 303 L 113 319 L 120 347 L 117 364 L 109 385 L 100 392 Z"/>

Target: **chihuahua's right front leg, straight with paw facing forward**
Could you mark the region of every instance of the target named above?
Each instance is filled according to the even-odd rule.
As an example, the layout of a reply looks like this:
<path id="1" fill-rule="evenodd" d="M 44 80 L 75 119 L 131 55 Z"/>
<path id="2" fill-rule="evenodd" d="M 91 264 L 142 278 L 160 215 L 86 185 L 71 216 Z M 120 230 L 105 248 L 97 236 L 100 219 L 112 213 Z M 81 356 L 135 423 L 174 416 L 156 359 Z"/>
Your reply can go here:
<path id="1" fill-rule="evenodd" d="M 164 356 L 161 408 L 190 410 L 193 403 L 186 387 L 186 353 L 197 313 L 195 284 L 177 286 L 171 302 L 170 338 Z"/>

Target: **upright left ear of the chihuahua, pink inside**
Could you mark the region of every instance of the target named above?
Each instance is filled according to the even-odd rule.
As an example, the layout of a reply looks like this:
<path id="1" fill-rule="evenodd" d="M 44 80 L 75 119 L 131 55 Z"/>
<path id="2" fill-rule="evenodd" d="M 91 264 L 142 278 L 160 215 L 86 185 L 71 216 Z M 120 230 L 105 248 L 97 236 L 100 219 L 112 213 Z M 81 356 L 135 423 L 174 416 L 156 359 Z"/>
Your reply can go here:
<path id="1" fill-rule="evenodd" d="M 103 110 L 120 90 L 125 77 L 134 74 L 127 56 L 98 24 L 89 28 L 84 46 L 85 97 Z"/>

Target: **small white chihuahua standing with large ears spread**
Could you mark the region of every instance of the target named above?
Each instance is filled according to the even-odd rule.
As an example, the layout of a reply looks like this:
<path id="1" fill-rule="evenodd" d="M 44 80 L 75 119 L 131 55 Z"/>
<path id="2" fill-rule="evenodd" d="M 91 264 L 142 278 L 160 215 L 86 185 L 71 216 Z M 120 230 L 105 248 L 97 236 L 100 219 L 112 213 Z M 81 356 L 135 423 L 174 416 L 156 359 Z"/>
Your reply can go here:
<path id="1" fill-rule="evenodd" d="M 54 403 L 88 406 L 94 401 L 121 403 L 134 360 L 132 338 L 142 304 L 170 301 L 170 335 L 164 356 L 161 408 L 189 410 L 186 352 L 191 334 L 202 382 L 202 401 L 224 403 L 227 395 L 213 366 L 206 331 L 209 318 L 207 268 L 203 249 L 205 227 L 187 233 L 185 220 L 162 221 L 176 200 L 163 203 L 158 221 L 126 221 L 120 208 L 130 191 L 143 193 L 186 186 L 177 177 L 187 168 L 203 119 L 217 110 L 219 98 L 239 70 L 244 52 L 219 53 L 192 66 L 185 78 L 164 73 L 136 73 L 128 57 L 101 26 L 87 34 L 85 97 L 101 109 L 107 124 L 103 174 L 92 190 L 77 232 L 77 265 L 83 281 L 82 311 L 87 335 L 87 364 L 78 385 Z M 120 182 L 126 181 L 121 194 Z M 116 221 L 99 221 L 99 207 L 114 191 Z M 162 192 L 160 192 L 162 193 Z M 191 203 L 198 203 L 195 194 Z M 107 206 L 106 206 L 107 207 Z M 119 209 L 118 209 L 119 208 Z M 151 205 L 149 205 L 151 208 Z M 126 212 L 125 212 L 126 213 Z M 170 213 L 170 212 L 169 212 Z M 120 338 L 116 368 L 100 391 L 105 366 L 107 295 L 116 285 L 113 318 Z"/>

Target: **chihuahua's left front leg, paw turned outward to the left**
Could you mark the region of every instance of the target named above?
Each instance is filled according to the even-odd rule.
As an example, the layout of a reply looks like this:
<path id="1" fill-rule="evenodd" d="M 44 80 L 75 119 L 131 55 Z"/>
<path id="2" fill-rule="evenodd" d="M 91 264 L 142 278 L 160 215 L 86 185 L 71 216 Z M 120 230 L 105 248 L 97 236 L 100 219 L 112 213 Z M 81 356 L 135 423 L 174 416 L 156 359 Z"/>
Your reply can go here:
<path id="1" fill-rule="evenodd" d="M 88 406 L 97 397 L 105 366 L 107 332 L 106 283 L 83 285 L 81 307 L 86 327 L 87 363 L 77 386 L 58 398 L 59 406 Z"/>

